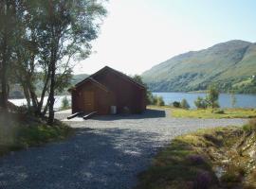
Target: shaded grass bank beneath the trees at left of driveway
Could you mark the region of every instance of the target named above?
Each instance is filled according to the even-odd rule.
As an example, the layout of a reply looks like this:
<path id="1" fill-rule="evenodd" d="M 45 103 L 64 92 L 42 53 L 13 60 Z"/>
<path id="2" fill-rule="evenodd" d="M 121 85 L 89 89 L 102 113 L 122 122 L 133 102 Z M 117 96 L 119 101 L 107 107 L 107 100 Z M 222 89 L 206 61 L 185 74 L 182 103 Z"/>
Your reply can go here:
<path id="1" fill-rule="evenodd" d="M 63 140 L 71 133 L 72 129 L 58 120 L 50 127 L 46 125 L 46 119 L 28 114 L 1 112 L 0 156 L 29 146 Z"/>

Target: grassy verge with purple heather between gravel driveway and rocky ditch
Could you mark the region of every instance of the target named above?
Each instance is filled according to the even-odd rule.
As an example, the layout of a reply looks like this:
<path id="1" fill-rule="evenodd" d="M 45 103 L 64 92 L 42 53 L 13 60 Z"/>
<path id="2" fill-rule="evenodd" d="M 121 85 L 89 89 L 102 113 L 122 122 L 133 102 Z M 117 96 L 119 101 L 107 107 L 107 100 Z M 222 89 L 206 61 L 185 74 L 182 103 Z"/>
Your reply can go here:
<path id="1" fill-rule="evenodd" d="M 157 154 L 152 166 L 139 175 L 137 188 L 204 188 L 204 184 L 217 187 L 218 181 L 206 149 L 225 146 L 223 139 L 234 130 L 199 130 L 176 137 L 170 146 Z"/>

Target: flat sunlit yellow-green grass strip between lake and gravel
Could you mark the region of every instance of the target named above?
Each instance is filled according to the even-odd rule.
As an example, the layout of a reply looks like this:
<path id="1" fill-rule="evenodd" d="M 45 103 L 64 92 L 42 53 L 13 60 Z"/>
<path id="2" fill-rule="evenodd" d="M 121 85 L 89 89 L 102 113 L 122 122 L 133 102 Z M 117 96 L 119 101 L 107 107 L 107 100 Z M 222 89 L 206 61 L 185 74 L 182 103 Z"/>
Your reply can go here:
<path id="1" fill-rule="evenodd" d="M 184 110 L 172 109 L 173 117 L 192 118 L 253 118 L 256 117 L 255 109 L 223 109 L 224 112 L 211 110 Z"/>

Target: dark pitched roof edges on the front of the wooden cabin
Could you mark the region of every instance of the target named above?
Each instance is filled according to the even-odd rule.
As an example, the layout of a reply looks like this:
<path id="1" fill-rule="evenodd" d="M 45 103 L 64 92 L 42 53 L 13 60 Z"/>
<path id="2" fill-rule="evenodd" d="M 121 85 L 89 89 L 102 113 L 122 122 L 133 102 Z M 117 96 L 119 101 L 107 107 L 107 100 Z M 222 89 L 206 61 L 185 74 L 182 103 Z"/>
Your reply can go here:
<path id="1" fill-rule="evenodd" d="M 94 77 L 97 77 L 97 76 L 101 75 L 101 73 L 104 72 L 104 71 L 106 71 L 106 70 L 107 70 L 107 71 L 110 71 L 110 72 L 112 72 L 112 73 L 114 73 L 114 74 L 116 74 L 116 75 L 119 76 L 119 77 L 122 77 L 123 79 L 125 79 L 125 80 L 127 80 L 127 81 L 129 81 L 129 82 L 131 82 L 131 83 L 133 83 L 133 84 L 135 84 L 135 85 L 137 85 L 137 87 L 140 88 L 140 89 L 146 89 L 145 86 L 143 86 L 143 85 L 141 85 L 140 83 L 138 83 L 138 82 L 137 82 L 136 80 L 134 80 L 132 77 L 128 77 L 127 75 L 125 75 L 125 74 L 119 72 L 118 70 L 115 70 L 115 69 L 113 69 L 113 68 L 111 68 L 111 67 L 109 67 L 109 66 L 105 66 L 105 67 L 101 68 L 101 70 L 99 70 L 98 72 L 96 72 L 95 74 L 93 74 L 93 75 L 91 75 L 91 76 L 89 76 L 89 77 L 84 78 L 82 81 L 80 81 L 79 83 L 77 83 L 74 88 L 76 89 L 77 87 L 81 86 L 84 82 L 86 82 L 86 81 L 88 81 L 88 80 L 91 80 L 91 81 L 93 81 L 94 83 L 96 83 L 99 87 L 101 87 L 102 89 L 104 89 L 105 91 L 109 91 L 105 85 L 103 85 L 102 83 L 100 83 L 98 80 L 96 80 L 96 79 L 94 78 Z M 73 88 L 73 89 L 74 89 L 74 88 Z M 72 90 L 72 89 L 69 89 L 68 91 L 71 91 L 71 90 Z"/>

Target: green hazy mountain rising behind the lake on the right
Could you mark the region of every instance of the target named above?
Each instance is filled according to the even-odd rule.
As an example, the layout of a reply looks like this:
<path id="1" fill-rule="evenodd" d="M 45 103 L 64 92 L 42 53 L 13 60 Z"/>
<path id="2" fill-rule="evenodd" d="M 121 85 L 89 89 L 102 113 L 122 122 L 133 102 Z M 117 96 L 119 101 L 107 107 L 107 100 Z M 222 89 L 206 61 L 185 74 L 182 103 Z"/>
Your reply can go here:
<path id="1" fill-rule="evenodd" d="M 256 43 L 234 40 L 175 56 L 141 77 L 157 92 L 206 90 L 214 82 L 223 92 L 256 93 L 254 76 Z"/>

